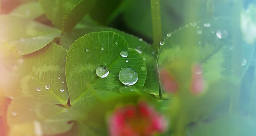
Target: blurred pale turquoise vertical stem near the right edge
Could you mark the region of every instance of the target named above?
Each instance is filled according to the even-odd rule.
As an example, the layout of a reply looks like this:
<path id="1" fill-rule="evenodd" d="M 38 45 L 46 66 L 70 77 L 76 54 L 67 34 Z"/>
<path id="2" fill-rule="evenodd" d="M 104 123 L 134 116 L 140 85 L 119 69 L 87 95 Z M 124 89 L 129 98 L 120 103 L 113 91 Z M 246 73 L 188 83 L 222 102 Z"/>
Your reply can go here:
<path id="1" fill-rule="evenodd" d="M 230 98 L 230 113 L 239 110 L 240 106 L 240 90 L 241 90 L 241 31 L 240 31 L 240 14 L 243 5 L 243 0 L 233 0 L 232 9 L 232 44 L 234 49 L 232 51 L 232 77 L 237 78 L 238 85 L 233 90 Z"/>

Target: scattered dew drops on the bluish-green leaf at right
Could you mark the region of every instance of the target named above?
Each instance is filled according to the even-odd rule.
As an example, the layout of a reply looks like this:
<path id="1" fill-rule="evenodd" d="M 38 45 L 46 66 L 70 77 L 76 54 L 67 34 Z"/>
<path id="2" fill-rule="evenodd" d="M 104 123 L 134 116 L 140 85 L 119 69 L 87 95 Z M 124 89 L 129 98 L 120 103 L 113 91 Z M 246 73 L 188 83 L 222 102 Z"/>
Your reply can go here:
<path id="1" fill-rule="evenodd" d="M 217 20 L 217 18 L 215 18 L 215 20 Z M 198 22 L 200 23 L 200 22 Z M 197 30 L 197 34 L 202 34 L 203 31 L 200 29 L 200 26 L 198 26 L 198 23 L 197 22 L 192 22 L 192 23 L 189 23 L 189 25 L 187 24 L 185 27 L 197 27 L 198 30 Z M 211 26 L 211 23 L 207 22 L 207 23 L 204 23 L 204 27 L 207 27 L 207 28 L 210 28 Z M 225 39 L 227 38 L 227 35 L 228 35 L 228 32 L 227 30 L 225 29 L 218 29 L 216 32 L 215 31 L 211 31 L 212 34 L 216 34 L 216 36 L 219 38 L 219 39 Z M 172 36 L 172 33 L 169 33 L 166 35 L 167 37 L 171 37 Z M 201 42 L 198 42 L 199 44 L 201 44 Z M 159 42 L 160 45 L 164 45 L 164 42 L 160 41 Z M 233 50 L 233 46 L 230 47 L 230 50 Z M 247 63 L 247 60 L 245 58 L 242 58 L 242 61 L 241 61 L 241 66 L 244 66 L 246 65 Z M 231 70 L 233 71 L 233 70 Z"/>

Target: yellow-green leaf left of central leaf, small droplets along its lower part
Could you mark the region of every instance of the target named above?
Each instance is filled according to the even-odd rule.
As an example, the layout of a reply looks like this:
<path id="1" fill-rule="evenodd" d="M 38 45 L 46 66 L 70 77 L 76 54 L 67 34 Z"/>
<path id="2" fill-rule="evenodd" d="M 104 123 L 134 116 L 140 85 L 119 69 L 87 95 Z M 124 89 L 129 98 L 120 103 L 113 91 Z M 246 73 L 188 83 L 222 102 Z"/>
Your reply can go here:
<path id="1" fill-rule="evenodd" d="M 68 99 L 65 82 L 67 51 L 51 43 L 36 54 L 23 56 L 16 79 L 20 84 L 16 90 L 6 91 L 9 97 L 29 96 L 53 104 L 66 104 Z M 59 79 L 60 78 L 60 79 Z M 63 90 L 61 90 L 63 89 Z"/>

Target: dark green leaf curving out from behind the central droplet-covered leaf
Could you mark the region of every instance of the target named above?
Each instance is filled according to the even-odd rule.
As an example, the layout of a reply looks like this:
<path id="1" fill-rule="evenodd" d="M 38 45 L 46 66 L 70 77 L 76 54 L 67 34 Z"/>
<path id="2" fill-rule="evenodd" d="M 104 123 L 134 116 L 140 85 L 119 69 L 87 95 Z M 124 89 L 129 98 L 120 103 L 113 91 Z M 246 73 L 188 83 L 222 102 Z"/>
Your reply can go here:
<path id="1" fill-rule="evenodd" d="M 151 45 L 148 45 L 143 39 L 135 37 L 131 34 L 124 33 L 122 31 L 107 28 L 107 27 L 86 27 L 81 29 L 74 29 L 70 34 L 63 34 L 60 37 L 60 45 L 64 48 L 70 48 L 70 45 L 79 37 L 96 31 L 113 31 L 120 34 L 128 42 L 128 47 L 134 48 L 145 59 L 147 67 L 147 79 L 143 90 L 154 95 L 158 95 L 159 82 L 157 76 L 156 65 L 156 52 L 152 50 Z"/>

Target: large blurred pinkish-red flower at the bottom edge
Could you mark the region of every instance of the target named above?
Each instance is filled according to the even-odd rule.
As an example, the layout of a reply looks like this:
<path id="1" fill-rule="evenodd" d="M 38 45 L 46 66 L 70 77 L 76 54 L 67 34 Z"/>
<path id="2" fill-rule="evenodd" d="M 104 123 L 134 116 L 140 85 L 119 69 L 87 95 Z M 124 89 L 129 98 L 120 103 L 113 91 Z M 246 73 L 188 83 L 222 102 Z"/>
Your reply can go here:
<path id="1" fill-rule="evenodd" d="M 153 136 L 166 127 L 163 116 L 145 102 L 117 108 L 109 119 L 110 136 Z"/>

